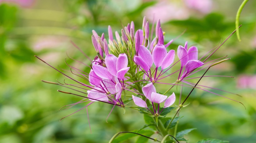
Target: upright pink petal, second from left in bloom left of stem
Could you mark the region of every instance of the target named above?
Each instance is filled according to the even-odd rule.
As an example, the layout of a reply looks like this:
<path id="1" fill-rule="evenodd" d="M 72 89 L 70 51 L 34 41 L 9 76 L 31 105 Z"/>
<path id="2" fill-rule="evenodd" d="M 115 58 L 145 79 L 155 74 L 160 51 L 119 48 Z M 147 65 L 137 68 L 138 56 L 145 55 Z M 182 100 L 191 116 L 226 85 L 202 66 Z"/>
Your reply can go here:
<path id="1" fill-rule="evenodd" d="M 105 57 L 105 63 L 108 71 L 116 76 L 117 70 L 116 70 L 116 61 L 117 57 L 115 55 L 109 54 Z"/>

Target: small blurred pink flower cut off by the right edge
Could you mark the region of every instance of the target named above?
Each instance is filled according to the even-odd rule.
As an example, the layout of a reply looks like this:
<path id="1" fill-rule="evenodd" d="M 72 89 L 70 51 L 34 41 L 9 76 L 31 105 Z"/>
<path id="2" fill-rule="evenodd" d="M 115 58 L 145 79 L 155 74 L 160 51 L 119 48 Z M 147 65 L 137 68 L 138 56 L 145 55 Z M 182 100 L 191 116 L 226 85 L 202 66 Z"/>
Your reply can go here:
<path id="1" fill-rule="evenodd" d="M 237 80 L 237 87 L 256 89 L 256 75 L 240 75 Z"/>

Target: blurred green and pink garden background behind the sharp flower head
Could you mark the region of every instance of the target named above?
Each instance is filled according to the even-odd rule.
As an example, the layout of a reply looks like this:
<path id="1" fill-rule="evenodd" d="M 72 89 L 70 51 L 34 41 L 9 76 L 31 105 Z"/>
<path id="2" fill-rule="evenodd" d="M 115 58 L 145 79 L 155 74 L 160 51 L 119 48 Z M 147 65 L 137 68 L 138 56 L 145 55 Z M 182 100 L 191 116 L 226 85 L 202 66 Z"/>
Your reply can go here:
<path id="1" fill-rule="evenodd" d="M 124 115 L 122 109 L 115 108 L 106 123 L 112 106 L 101 103 L 88 107 L 92 132 L 86 109 L 60 122 L 62 117 L 87 103 L 58 111 L 81 98 L 57 92 L 57 89 L 70 91 L 64 87 L 41 82 L 63 83 L 65 77 L 34 55 L 58 69 L 70 70 L 66 58 L 67 63 L 88 72 L 88 67 L 68 58 L 90 64 L 70 41 L 93 59 L 96 52 L 91 44 L 92 29 L 98 34 L 104 32 L 107 38 L 108 25 L 120 33 L 122 25 L 134 21 L 135 29 L 141 29 L 143 17 L 152 20 L 152 13 L 156 13 L 156 17 L 161 18 L 165 39 L 176 38 L 186 30 L 169 49 L 176 50 L 188 41 L 189 45 L 199 48 L 202 56 L 234 31 L 235 15 L 242 0 L 204 2 L 200 2 L 203 6 L 196 6 L 189 0 L 0 0 L 0 142 L 98 143 L 109 141 L 116 132 L 143 127 L 143 115 L 129 108 Z M 209 71 L 209 75 L 234 76 L 235 79 L 201 81 L 202 85 L 241 95 L 213 90 L 242 102 L 246 109 L 237 102 L 197 89 L 187 102 L 190 105 L 180 113 L 184 117 L 180 119 L 179 130 L 197 128 L 186 136 L 191 143 L 204 138 L 230 143 L 256 141 L 255 7 L 256 1 L 249 0 L 241 13 L 242 41 L 238 42 L 234 34 L 213 57 L 228 55 L 231 60 Z M 166 89 L 162 85 L 158 88 Z"/>

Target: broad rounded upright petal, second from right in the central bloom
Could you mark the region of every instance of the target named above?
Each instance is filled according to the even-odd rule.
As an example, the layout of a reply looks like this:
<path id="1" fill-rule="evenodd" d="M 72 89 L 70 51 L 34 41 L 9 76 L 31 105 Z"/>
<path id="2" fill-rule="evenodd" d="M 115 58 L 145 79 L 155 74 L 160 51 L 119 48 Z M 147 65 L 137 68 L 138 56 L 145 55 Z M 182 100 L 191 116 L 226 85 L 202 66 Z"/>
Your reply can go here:
<path id="1" fill-rule="evenodd" d="M 167 55 L 167 51 L 164 45 L 160 45 L 160 44 L 155 45 L 152 52 L 152 59 L 157 68 L 161 66 L 162 61 L 164 60 L 166 55 Z"/>

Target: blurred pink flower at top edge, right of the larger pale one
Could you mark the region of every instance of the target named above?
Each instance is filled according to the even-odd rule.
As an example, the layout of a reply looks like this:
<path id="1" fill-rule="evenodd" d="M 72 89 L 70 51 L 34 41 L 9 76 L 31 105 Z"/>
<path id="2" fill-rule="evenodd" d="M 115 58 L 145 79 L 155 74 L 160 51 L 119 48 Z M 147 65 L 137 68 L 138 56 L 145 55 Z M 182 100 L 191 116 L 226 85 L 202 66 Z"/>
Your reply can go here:
<path id="1" fill-rule="evenodd" d="M 184 0 L 185 5 L 202 13 L 209 13 L 212 10 L 212 0 Z"/>

